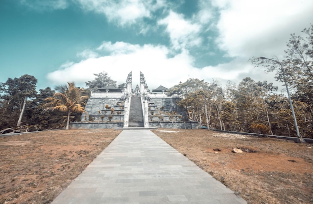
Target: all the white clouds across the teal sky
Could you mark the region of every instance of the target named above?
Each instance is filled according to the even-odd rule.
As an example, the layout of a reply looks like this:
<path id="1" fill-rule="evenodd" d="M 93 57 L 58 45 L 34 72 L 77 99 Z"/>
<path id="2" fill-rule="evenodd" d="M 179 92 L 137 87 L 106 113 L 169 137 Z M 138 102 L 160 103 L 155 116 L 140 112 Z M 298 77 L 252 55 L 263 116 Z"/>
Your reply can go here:
<path id="1" fill-rule="evenodd" d="M 165 8 L 164 2 L 161 1 L 156 1 L 151 7 L 139 0 L 124 0 L 121 5 L 104 0 L 80 2 L 86 10 L 103 13 L 109 21 L 117 22 L 121 26 L 133 24 L 142 18 L 151 18 L 151 11 Z M 206 81 L 217 79 L 223 84 L 227 80 L 238 83 L 245 77 L 251 77 L 255 81 L 274 82 L 274 73 L 265 74 L 262 68 L 254 68 L 247 60 L 253 56 L 282 55 L 289 34 L 300 34 L 300 31 L 311 23 L 310 19 L 313 19 L 313 13 L 309 11 L 313 8 L 313 2 L 308 0 L 212 0 L 212 5 L 220 10 L 219 18 L 212 16 L 213 9 L 203 0 L 199 3 L 198 13 L 191 19 L 170 11 L 167 17 L 156 20 L 160 28 L 164 26 L 164 32 L 170 38 L 171 45 L 167 47 L 103 42 L 94 50 L 79 53 L 77 56 L 82 57 L 82 61 L 66 63 L 59 70 L 49 73 L 47 78 L 54 85 L 75 81 L 84 86 L 84 82 L 94 78 L 93 73 L 105 71 L 120 84 L 125 82 L 127 74 L 132 71 L 135 86 L 139 83 L 141 71 L 149 89 L 154 89 L 160 84 L 169 88 L 188 78 Z M 124 16 L 125 11 L 130 11 L 131 15 Z M 194 67 L 197 59 L 196 56 L 190 55 L 189 49 L 205 46 L 205 38 L 214 40 L 214 36 L 204 36 L 210 28 L 208 25 L 216 25 L 219 36 L 215 42 L 232 60 L 216 66 Z M 211 51 L 209 55 L 212 55 Z"/>

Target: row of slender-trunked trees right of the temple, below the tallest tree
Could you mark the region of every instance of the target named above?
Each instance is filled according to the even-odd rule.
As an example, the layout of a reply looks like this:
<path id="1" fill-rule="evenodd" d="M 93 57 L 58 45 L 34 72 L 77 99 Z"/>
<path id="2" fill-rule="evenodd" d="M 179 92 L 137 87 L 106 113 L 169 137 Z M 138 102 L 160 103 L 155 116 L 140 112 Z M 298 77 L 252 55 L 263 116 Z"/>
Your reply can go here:
<path id="1" fill-rule="evenodd" d="M 187 86 L 183 89 L 192 90 Z M 288 100 L 276 91 L 272 83 L 256 82 L 248 77 L 238 85 L 228 84 L 225 88 L 212 81 L 206 83 L 204 89 L 188 92 L 177 104 L 186 110 L 190 120 L 208 128 L 295 136 Z M 294 109 L 301 134 L 313 137 L 307 104 L 297 101 Z"/>

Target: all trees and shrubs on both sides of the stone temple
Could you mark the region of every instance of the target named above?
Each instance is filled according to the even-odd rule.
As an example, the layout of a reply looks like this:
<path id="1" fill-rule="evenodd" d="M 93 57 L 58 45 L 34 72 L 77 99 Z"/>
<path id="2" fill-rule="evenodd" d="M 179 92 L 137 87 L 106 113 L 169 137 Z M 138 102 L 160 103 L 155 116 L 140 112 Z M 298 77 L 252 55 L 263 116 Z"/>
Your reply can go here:
<path id="1" fill-rule="evenodd" d="M 263 66 L 267 72 L 275 71 L 276 80 L 286 82 L 291 89 L 299 132 L 303 137 L 313 138 L 313 26 L 302 32 L 302 36 L 291 34 L 282 60 L 258 57 L 251 58 L 250 61 L 255 66 Z M 65 124 L 68 127 L 69 120 L 79 120 L 81 112 L 84 112 L 90 89 L 116 86 L 116 82 L 107 73 L 94 75 L 95 79 L 86 83 L 88 89 L 80 89 L 74 87 L 73 83 L 68 83 L 56 87 L 56 93 L 49 87 L 40 89 L 37 93 L 36 79 L 30 75 L 8 78 L 5 83 L 0 83 L 0 129 L 16 127 L 21 115 L 21 123 L 29 124 L 27 128 L 32 130 L 60 128 Z M 199 125 L 213 129 L 295 136 L 288 99 L 284 94 L 276 92 L 277 87 L 272 83 L 246 77 L 237 85 L 229 81 L 225 87 L 215 80 L 205 82 L 188 79 L 171 87 L 167 94 L 181 98 L 177 104 L 186 112 L 183 120 L 197 121 Z M 123 109 L 123 104 L 116 105 Z M 21 114 L 23 107 L 24 114 Z M 53 112 L 43 111 L 44 109 Z M 108 104 L 105 105 L 104 114 L 106 111 L 114 113 L 113 107 Z M 164 114 L 167 114 L 172 123 L 182 120 L 174 112 L 163 113 L 158 108 L 149 108 L 149 111 L 153 115 L 149 119 L 155 118 L 160 124 Z M 116 113 L 120 115 L 121 111 Z M 99 116 L 103 120 L 100 112 Z M 112 115 L 109 117 L 113 118 Z M 94 118 L 89 117 L 89 120 L 93 121 Z"/>

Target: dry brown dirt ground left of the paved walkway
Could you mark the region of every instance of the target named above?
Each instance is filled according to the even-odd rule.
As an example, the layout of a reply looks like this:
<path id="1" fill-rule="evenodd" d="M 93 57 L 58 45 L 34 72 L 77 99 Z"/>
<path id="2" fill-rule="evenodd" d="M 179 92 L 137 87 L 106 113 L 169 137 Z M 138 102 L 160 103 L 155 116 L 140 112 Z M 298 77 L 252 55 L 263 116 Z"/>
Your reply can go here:
<path id="1" fill-rule="evenodd" d="M 120 133 L 57 130 L 0 137 L 0 203 L 50 203 Z"/>

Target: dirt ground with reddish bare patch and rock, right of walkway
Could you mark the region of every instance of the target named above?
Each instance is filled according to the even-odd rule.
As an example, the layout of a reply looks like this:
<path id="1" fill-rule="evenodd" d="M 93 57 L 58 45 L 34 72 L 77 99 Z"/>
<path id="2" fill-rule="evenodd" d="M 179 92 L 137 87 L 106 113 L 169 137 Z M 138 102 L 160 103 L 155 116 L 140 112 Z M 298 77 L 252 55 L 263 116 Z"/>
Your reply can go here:
<path id="1" fill-rule="evenodd" d="M 153 132 L 248 203 L 313 203 L 312 144 L 203 129 Z"/>

